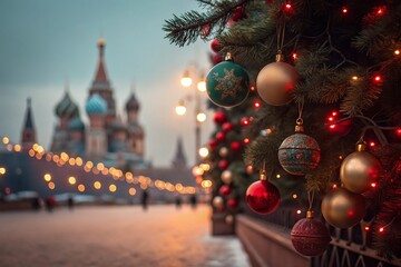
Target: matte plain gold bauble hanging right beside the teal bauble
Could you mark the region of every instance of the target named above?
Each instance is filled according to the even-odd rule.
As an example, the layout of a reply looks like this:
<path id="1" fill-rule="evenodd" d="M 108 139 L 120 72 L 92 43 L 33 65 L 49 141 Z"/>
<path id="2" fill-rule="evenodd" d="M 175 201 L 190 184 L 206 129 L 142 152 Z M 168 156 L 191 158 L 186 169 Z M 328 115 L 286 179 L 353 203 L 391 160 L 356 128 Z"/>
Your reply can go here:
<path id="1" fill-rule="evenodd" d="M 276 62 L 266 65 L 257 75 L 257 93 L 268 105 L 283 106 L 291 101 L 292 92 L 299 81 L 296 69 L 283 62 L 277 55 Z"/>

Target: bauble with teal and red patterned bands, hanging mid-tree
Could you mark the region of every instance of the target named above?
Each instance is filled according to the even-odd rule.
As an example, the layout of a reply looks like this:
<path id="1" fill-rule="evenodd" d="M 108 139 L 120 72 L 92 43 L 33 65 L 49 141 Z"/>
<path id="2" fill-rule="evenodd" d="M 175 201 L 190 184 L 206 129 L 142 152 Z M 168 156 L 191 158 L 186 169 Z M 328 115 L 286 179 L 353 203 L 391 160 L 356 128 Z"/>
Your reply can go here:
<path id="1" fill-rule="evenodd" d="M 302 127 L 297 126 L 295 130 L 297 132 L 285 138 L 280 146 L 278 161 L 287 172 L 304 176 L 317 167 L 320 147 L 315 139 L 302 132 Z"/>

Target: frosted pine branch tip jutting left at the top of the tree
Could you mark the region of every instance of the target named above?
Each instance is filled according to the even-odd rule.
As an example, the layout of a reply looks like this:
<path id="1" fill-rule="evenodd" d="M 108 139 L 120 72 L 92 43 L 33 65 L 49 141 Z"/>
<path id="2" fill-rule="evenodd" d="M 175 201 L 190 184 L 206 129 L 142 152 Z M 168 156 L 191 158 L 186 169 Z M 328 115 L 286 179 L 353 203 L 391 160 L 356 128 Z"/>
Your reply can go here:
<path id="1" fill-rule="evenodd" d="M 193 43 L 202 36 L 206 39 L 211 34 L 221 34 L 228 20 L 236 12 L 236 8 L 245 8 L 252 0 L 229 1 L 200 1 L 209 6 L 209 10 L 204 13 L 189 11 L 180 17 L 174 14 L 173 19 L 165 20 L 163 30 L 167 32 L 166 38 L 170 43 L 179 47 Z"/>

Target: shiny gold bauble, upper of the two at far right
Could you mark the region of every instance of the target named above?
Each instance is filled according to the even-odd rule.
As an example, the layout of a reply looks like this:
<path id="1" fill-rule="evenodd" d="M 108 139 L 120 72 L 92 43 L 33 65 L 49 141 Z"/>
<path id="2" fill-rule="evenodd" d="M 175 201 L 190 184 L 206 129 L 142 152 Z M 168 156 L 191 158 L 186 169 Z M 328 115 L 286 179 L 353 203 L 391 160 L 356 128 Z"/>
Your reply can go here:
<path id="1" fill-rule="evenodd" d="M 343 187 L 352 192 L 362 194 L 375 186 L 382 170 L 379 160 L 365 151 L 366 144 L 359 142 L 356 151 L 346 156 L 341 165 L 340 178 Z"/>

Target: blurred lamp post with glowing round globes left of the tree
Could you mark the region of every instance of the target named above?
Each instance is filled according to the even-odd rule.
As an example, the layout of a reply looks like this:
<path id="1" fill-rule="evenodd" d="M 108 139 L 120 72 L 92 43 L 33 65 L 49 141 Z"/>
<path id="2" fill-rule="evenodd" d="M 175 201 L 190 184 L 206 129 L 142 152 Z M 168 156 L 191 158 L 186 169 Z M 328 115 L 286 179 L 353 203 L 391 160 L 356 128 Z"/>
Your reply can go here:
<path id="1" fill-rule="evenodd" d="M 197 71 L 194 71 L 194 78 L 190 76 L 189 71 L 185 71 L 184 76 L 180 79 L 180 83 L 183 87 L 194 90 L 194 93 L 190 92 L 186 95 L 185 98 L 180 99 L 178 101 L 178 105 L 176 107 L 176 112 L 179 116 L 183 116 L 186 113 L 186 103 L 185 100 L 192 101 L 194 100 L 195 109 L 194 109 L 194 116 L 195 116 L 195 164 L 199 161 L 199 155 L 198 149 L 200 148 L 200 126 L 203 122 L 206 121 L 206 113 L 202 110 L 202 92 L 206 91 L 206 81 L 202 76 L 198 76 L 196 73 Z M 195 82 L 193 82 L 196 80 Z"/>

